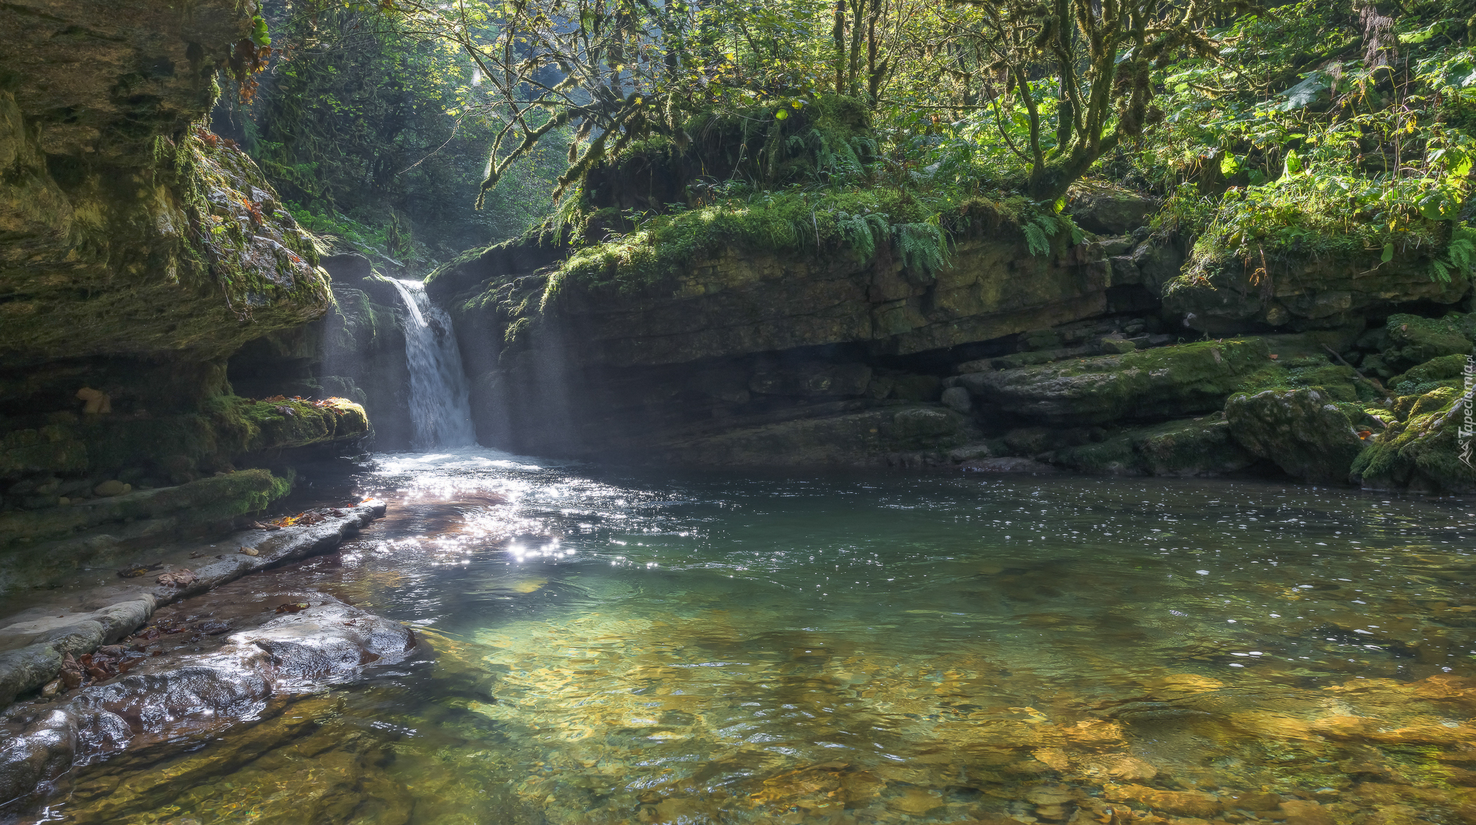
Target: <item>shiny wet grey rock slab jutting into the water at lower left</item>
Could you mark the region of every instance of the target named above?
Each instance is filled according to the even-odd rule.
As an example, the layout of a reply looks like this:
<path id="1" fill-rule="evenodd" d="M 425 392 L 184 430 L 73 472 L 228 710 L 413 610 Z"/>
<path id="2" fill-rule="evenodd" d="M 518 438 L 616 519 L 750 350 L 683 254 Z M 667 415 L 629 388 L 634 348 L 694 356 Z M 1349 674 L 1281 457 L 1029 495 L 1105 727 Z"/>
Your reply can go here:
<path id="1" fill-rule="evenodd" d="M 273 695 L 353 681 L 415 647 L 407 628 L 325 594 L 276 594 L 273 601 L 280 600 L 311 607 L 279 614 L 269 601 L 255 626 L 223 636 L 215 650 L 142 659 L 125 676 L 61 704 L 13 710 L 0 726 L 0 798 L 41 801 L 72 766 L 218 731 L 261 713 Z"/>

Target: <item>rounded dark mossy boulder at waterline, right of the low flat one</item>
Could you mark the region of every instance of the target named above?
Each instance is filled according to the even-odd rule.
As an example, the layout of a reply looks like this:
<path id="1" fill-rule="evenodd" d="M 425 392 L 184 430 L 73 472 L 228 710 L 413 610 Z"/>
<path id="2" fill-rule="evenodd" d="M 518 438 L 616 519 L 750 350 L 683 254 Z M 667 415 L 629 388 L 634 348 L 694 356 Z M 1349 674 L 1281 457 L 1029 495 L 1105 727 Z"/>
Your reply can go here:
<path id="1" fill-rule="evenodd" d="M 1225 418 L 1241 446 L 1289 476 L 1346 485 L 1365 446 L 1346 407 L 1318 389 L 1268 389 L 1231 398 Z"/>

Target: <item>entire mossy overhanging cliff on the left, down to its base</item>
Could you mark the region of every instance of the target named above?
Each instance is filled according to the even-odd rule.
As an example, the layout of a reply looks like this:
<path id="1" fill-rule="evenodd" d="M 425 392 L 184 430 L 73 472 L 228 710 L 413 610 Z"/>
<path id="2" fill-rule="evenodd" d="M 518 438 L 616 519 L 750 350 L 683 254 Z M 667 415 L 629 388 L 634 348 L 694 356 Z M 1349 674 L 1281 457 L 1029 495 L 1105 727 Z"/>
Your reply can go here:
<path id="1" fill-rule="evenodd" d="M 226 527 L 283 495 L 304 449 L 368 433 L 351 402 L 252 404 L 227 380 L 244 345 L 332 306 L 314 240 L 204 121 L 252 9 L 0 7 L 6 567 Z M 186 501 L 192 482 L 215 498 L 148 516 L 112 504 Z"/>

